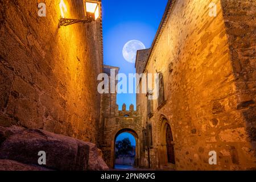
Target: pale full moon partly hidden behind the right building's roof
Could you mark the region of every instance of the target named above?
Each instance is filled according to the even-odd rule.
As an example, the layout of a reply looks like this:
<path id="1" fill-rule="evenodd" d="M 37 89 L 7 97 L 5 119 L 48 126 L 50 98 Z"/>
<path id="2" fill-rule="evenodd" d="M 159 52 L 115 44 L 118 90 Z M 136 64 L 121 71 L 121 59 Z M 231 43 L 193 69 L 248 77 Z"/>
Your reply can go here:
<path id="1" fill-rule="evenodd" d="M 137 51 L 145 49 L 144 44 L 139 40 L 130 40 L 123 46 L 123 58 L 129 63 L 135 63 Z"/>

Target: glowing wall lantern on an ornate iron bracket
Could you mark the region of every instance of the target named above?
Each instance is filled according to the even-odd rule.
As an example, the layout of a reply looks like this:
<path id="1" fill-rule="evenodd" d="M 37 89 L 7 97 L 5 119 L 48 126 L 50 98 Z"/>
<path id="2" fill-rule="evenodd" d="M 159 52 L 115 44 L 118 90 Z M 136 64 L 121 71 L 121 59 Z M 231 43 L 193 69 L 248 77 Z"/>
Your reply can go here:
<path id="1" fill-rule="evenodd" d="M 60 3 L 63 3 L 61 0 Z M 61 4 L 60 4 L 61 8 Z M 101 16 L 101 3 L 98 1 L 87 1 L 84 0 L 84 13 L 86 19 L 69 19 L 64 18 L 63 15 L 60 17 L 59 28 L 61 26 L 68 26 L 69 24 L 75 23 L 90 23 L 97 20 Z"/>

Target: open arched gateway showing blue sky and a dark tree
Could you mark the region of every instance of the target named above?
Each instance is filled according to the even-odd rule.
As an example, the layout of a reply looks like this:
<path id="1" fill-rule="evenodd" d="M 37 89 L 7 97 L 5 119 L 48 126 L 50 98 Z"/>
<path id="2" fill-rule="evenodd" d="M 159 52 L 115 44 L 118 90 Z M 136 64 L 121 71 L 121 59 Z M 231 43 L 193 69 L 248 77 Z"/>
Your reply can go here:
<path id="1" fill-rule="evenodd" d="M 122 142 L 122 140 L 129 138 L 131 142 L 131 150 L 126 155 L 119 154 L 117 155 L 117 148 L 119 144 L 123 144 L 126 142 Z M 122 129 L 119 130 L 117 134 L 115 134 L 114 138 L 114 156 L 113 156 L 113 167 L 118 169 L 130 169 L 137 167 L 137 156 L 138 156 L 138 135 L 134 130 L 131 129 Z"/>

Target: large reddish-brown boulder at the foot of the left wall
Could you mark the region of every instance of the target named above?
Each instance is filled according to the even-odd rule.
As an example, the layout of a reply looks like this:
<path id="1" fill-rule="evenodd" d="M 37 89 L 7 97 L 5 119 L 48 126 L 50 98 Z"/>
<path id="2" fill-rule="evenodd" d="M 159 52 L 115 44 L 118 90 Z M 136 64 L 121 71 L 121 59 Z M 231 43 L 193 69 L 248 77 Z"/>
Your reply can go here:
<path id="1" fill-rule="evenodd" d="M 0 159 L 38 164 L 39 151 L 46 152 L 43 167 L 61 171 L 108 170 L 95 144 L 45 130 L 0 127 Z"/>

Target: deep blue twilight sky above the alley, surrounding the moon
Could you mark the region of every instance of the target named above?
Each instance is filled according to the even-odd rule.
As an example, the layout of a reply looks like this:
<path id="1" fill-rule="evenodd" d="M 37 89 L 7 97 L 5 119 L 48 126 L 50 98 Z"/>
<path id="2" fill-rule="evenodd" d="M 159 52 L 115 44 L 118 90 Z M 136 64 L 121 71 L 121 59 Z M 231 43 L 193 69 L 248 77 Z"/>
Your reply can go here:
<path id="1" fill-rule="evenodd" d="M 119 67 L 119 73 L 135 73 L 135 65 L 122 55 L 130 40 L 141 41 L 150 48 L 168 0 L 102 0 L 104 64 Z M 136 108 L 135 94 L 118 94 L 117 104 Z"/>

